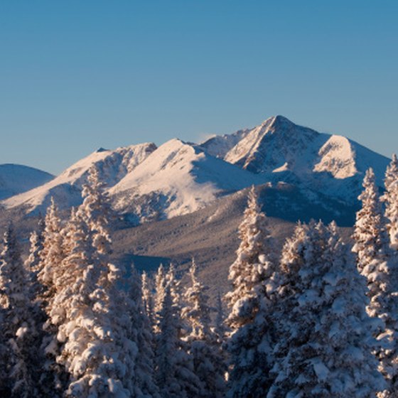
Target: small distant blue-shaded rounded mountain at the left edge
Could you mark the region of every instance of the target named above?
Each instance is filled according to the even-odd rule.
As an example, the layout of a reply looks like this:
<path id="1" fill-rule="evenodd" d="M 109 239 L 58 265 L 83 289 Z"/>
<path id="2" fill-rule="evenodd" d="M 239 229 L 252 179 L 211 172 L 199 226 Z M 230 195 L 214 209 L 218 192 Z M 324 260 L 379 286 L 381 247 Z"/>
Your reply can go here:
<path id="1" fill-rule="evenodd" d="M 50 173 L 21 164 L 0 164 L 0 200 L 43 185 L 54 178 Z"/>

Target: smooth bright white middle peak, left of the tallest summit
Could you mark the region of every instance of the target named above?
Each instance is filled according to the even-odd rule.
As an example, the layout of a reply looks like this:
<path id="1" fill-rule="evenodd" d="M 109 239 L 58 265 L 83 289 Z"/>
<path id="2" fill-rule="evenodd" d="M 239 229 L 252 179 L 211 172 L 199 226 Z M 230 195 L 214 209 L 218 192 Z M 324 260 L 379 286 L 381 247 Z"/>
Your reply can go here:
<path id="1" fill-rule="evenodd" d="M 200 146 L 172 139 L 109 190 L 120 210 L 144 219 L 175 217 L 205 207 L 261 178 L 215 158 Z"/>

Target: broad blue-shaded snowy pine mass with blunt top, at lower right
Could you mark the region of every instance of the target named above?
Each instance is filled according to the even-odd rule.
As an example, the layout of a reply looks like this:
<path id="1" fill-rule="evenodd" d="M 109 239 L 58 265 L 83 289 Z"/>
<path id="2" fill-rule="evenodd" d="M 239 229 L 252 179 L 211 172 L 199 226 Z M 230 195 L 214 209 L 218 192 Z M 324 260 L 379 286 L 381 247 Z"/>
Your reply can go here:
<path id="1" fill-rule="evenodd" d="M 374 397 L 384 380 L 371 353 L 365 280 L 335 225 L 299 224 L 281 267 L 279 344 L 267 397 Z"/>

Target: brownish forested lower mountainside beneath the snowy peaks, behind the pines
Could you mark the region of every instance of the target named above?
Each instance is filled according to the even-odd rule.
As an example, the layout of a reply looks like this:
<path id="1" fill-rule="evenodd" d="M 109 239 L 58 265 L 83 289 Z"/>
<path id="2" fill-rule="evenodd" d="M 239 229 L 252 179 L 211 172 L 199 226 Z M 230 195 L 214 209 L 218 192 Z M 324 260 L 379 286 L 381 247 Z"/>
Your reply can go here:
<path id="1" fill-rule="evenodd" d="M 259 185 L 257 192 L 262 210 L 269 217 L 269 227 L 274 238 L 275 253 L 279 253 L 287 236 L 291 235 L 298 219 L 311 218 L 330 222 L 335 219 L 340 226 L 353 222 L 353 209 L 340 207 L 334 213 L 335 203 L 325 198 L 314 204 L 298 190 L 280 186 Z M 227 291 L 228 268 L 236 258 L 239 246 L 237 229 L 242 222 L 247 205 L 248 189 L 217 198 L 206 208 L 170 220 L 145 222 L 136 227 L 124 227 L 114 232 L 114 260 L 126 267 L 131 263 L 141 270 L 155 271 L 159 264 L 173 264 L 180 276 L 189 275 L 192 257 L 198 264 L 200 278 L 210 286 L 210 296 Z M 345 239 L 351 228 L 341 228 Z M 185 282 L 185 279 L 183 280 Z"/>

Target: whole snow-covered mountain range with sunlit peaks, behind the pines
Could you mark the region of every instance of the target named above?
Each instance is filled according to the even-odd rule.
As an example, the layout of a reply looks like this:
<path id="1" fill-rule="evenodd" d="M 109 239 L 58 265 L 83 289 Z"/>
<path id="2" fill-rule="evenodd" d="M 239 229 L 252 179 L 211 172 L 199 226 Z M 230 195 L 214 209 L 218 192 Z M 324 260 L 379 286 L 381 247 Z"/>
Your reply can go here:
<path id="1" fill-rule="evenodd" d="M 99 149 L 52 181 L 1 204 L 31 212 L 44 210 L 54 196 L 62 208 L 77 205 L 87 171 L 96 164 L 114 207 L 134 220 L 192 213 L 215 198 L 264 183 L 287 184 L 325 208 L 327 202 L 355 208 L 366 169 L 375 170 L 382 186 L 388 163 L 344 136 L 318 133 L 276 116 L 254 129 L 213 136 L 199 145 L 172 139 L 158 148 Z"/>

